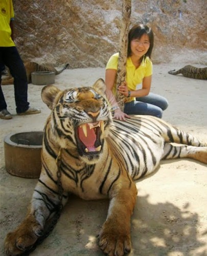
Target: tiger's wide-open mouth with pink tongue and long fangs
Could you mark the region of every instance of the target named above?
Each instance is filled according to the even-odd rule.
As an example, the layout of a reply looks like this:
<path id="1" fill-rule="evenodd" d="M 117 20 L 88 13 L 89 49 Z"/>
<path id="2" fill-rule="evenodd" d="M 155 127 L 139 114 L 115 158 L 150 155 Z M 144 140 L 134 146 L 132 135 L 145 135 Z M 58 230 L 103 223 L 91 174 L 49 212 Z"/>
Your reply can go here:
<path id="1" fill-rule="evenodd" d="M 104 132 L 104 121 L 84 123 L 78 126 L 77 138 L 83 154 L 99 153 L 101 151 L 101 133 Z"/>

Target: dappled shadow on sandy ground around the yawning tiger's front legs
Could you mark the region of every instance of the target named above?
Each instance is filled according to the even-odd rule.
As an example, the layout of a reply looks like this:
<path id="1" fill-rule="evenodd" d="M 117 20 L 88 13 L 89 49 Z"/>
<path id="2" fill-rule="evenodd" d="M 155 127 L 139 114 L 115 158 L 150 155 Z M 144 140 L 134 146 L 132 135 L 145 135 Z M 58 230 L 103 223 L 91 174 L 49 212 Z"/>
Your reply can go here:
<path id="1" fill-rule="evenodd" d="M 4 169 L 1 171 L 5 172 Z M 11 190 L 1 197 L 1 255 L 5 255 L 4 237 L 24 218 L 36 183 L 34 179 L 4 176 L 5 184 L 11 186 Z M 188 210 L 189 204 L 180 209 L 169 202 L 151 204 L 148 199 L 149 195 L 137 197 L 131 221 L 132 251 L 129 255 L 195 255 L 195 249 L 204 245 L 197 239 L 197 213 Z M 107 216 L 107 209 L 108 200 L 83 201 L 72 196 L 50 236 L 30 255 L 103 255 L 97 235 Z M 203 251 L 200 255 L 205 253 Z"/>

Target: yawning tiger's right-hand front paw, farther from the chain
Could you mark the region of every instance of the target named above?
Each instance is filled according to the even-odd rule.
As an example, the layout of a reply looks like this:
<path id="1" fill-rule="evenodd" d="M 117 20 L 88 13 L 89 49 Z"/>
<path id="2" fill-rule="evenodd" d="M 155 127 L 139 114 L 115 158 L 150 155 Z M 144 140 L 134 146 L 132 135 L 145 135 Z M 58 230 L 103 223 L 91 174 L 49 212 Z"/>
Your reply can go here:
<path id="1" fill-rule="evenodd" d="M 129 228 L 105 222 L 99 234 L 99 246 L 109 256 L 122 256 L 130 252 Z"/>

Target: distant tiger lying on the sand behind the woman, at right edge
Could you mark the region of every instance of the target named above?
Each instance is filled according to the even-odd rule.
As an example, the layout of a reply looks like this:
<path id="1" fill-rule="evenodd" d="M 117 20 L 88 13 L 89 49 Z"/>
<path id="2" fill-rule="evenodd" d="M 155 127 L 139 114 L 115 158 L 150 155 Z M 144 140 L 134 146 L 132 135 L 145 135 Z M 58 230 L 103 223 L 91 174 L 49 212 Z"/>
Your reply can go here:
<path id="1" fill-rule="evenodd" d="M 170 70 L 168 72 L 171 75 L 178 75 L 182 74 L 183 76 L 189 77 L 189 78 L 194 78 L 194 79 L 202 79 L 206 80 L 207 79 L 207 67 L 205 68 L 196 68 L 191 65 L 187 65 L 177 71 Z"/>

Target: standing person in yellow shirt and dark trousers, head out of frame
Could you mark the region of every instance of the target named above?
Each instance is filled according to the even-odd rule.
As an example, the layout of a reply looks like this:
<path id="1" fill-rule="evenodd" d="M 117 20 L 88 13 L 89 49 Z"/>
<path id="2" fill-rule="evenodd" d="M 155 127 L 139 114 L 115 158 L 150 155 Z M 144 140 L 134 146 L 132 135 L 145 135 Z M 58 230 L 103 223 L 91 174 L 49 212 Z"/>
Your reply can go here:
<path id="1" fill-rule="evenodd" d="M 31 108 L 28 102 L 28 82 L 24 63 L 16 49 L 13 38 L 14 10 L 12 0 L 0 1 L 0 85 L 2 70 L 7 66 L 14 78 L 14 97 L 17 115 L 37 114 L 41 111 Z M 0 118 L 11 119 L 7 103 L 0 86 Z"/>

